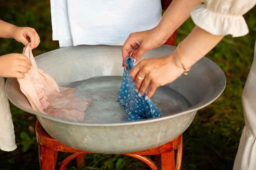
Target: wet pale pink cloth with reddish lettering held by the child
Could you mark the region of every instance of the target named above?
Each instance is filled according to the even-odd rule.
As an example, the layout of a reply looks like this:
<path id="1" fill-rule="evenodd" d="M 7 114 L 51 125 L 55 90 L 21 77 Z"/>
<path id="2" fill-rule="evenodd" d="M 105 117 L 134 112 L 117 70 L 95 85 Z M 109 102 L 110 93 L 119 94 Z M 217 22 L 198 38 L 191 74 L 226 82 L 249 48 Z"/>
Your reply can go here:
<path id="1" fill-rule="evenodd" d="M 32 109 L 56 118 L 83 121 L 84 111 L 91 99 L 75 97 L 74 88 L 59 87 L 54 79 L 37 68 L 30 44 L 23 49 L 31 62 L 25 78 L 17 78 L 20 90 L 27 97 Z"/>

